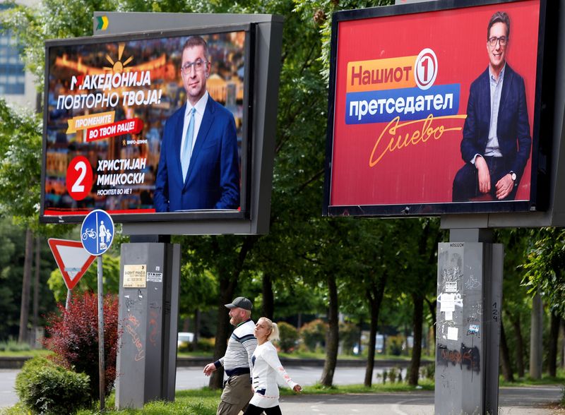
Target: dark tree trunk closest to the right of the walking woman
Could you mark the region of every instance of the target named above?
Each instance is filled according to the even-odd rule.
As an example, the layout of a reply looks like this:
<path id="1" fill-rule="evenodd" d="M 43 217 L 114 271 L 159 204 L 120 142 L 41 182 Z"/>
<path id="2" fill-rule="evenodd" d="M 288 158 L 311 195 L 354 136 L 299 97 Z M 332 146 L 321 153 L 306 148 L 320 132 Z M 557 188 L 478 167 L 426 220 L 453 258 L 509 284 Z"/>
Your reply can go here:
<path id="1" fill-rule="evenodd" d="M 326 342 L 326 361 L 323 363 L 321 385 L 330 387 L 333 384 L 333 373 L 338 363 L 339 318 L 338 318 L 338 285 L 333 272 L 328 274 L 328 339 Z"/>

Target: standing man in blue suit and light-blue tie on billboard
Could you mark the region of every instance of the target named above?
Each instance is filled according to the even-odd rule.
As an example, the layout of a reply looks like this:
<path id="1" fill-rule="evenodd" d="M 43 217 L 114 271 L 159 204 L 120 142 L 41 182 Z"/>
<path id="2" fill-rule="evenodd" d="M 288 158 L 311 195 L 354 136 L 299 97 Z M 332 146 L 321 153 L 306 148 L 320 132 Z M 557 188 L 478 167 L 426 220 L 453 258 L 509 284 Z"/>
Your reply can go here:
<path id="1" fill-rule="evenodd" d="M 167 119 L 155 179 L 155 210 L 237 209 L 239 157 L 234 117 L 206 90 L 208 46 L 199 36 L 182 50 L 186 104 Z"/>

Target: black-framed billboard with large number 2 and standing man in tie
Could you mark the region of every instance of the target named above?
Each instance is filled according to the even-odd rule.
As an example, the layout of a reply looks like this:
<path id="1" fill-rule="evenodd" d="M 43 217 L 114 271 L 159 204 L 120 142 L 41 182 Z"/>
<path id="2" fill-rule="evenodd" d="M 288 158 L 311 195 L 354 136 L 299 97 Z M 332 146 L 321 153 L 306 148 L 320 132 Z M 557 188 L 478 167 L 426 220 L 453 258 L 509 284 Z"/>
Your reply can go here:
<path id="1" fill-rule="evenodd" d="M 254 28 L 45 42 L 40 220 L 249 218 Z"/>

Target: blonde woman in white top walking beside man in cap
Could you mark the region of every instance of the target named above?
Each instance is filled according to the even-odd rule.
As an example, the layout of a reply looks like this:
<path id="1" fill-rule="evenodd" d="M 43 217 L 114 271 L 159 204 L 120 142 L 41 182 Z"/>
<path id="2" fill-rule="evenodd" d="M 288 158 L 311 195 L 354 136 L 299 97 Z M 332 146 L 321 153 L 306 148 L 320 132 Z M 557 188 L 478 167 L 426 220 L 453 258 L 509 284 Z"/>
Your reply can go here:
<path id="1" fill-rule="evenodd" d="M 244 415 L 281 415 L 278 406 L 277 375 L 280 375 L 287 385 L 295 392 L 300 392 L 302 387 L 293 382 L 280 364 L 277 349 L 271 341 L 278 340 L 278 327 L 276 323 L 265 317 L 259 318 L 255 325 L 254 336 L 257 338 L 257 348 L 251 357 L 253 362 L 253 390 L 254 395 L 244 412 Z"/>

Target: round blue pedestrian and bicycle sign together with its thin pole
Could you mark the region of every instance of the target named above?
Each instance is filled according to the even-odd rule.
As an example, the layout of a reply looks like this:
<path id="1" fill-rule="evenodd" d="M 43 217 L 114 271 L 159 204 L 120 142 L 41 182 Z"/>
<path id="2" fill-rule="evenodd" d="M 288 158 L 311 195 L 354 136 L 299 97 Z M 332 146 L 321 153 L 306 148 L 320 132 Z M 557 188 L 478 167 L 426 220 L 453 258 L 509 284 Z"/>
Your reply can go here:
<path id="1" fill-rule="evenodd" d="M 105 361 L 104 361 L 104 304 L 102 298 L 102 253 L 114 240 L 114 221 L 104 210 L 93 210 L 83 220 L 81 241 L 88 253 L 98 257 L 98 375 L 100 377 L 100 412 L 104 411 Z"/>

